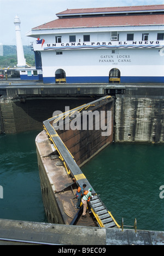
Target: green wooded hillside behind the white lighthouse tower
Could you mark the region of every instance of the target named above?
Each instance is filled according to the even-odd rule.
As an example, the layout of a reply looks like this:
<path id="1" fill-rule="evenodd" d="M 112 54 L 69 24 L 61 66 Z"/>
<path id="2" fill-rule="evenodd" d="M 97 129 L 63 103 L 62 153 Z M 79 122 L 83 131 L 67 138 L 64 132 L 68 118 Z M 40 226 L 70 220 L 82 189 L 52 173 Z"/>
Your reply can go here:
<path id="1" fill-rule="evenodd" d="M 28 45 L 24 45 L 26 62 L 35 65 L 34 52 Z M 0 56 L 0 67 L 14 67 L 17 64 L 16 45 L 3 45 L 3 56 Z"/>

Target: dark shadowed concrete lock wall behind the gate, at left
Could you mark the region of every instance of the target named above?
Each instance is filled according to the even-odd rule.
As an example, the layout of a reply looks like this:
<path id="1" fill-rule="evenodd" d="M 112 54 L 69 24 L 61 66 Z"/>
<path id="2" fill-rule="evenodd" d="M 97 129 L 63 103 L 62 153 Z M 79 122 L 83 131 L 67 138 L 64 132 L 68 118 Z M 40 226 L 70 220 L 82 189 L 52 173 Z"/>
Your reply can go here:
<path id="1" fill-rule="evenodd" d="M 42 130 L 43 121 L 52 117 L 55 110 L 65 112 L 91 99 L 57 99 L 57 98 L 0 98 L 0 133 L 20 133 L 26 130 Z M 4 130 L 3 130 L 4 128 Z"/>

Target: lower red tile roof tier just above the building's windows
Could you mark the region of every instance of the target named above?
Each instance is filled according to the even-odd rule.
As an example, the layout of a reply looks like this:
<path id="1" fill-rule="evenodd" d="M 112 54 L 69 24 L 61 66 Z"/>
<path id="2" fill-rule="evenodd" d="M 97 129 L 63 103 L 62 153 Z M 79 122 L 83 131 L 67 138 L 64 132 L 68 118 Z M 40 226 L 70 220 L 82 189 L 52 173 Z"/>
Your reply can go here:
<path id="1" fill-rule="evenodd" d="M 39 29 L 64 29 L 72 27 L 102 27 L 102 26 L 141 26 L 163 25 L 164 14 L 160 15 L 127 15 L 127 16 L 103 16 L 89 18 L 67 18 L 50 21 L 46 24 L 34 27 Z"/>

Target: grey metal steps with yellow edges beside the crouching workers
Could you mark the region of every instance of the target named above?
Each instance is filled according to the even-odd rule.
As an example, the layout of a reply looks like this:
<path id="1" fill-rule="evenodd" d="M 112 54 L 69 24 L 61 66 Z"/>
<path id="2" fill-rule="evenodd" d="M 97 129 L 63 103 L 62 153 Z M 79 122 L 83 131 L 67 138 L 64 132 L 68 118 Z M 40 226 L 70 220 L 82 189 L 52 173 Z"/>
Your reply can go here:
<path id="1" fill-rule="evenodd" d="M 91 207 L 91 212 L 95 216 L 97 223 L 100 227 L 119 227 L 118 223 L 116 223 L 112 214 L 107 210 L 106 206 L 104 206 L 101 199 L 98 195 L 94 196 L 92 200 L 89 202 Z"/>

